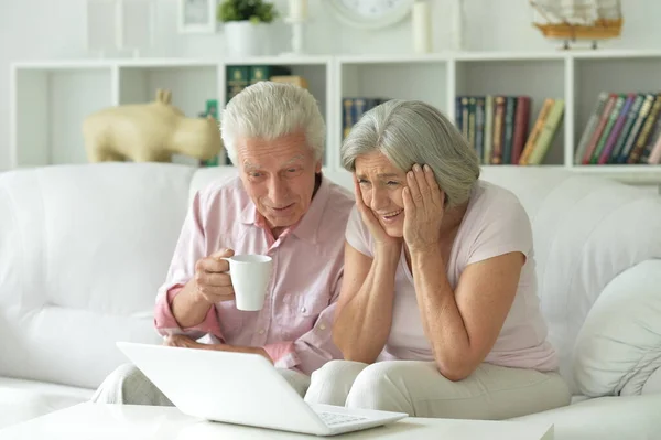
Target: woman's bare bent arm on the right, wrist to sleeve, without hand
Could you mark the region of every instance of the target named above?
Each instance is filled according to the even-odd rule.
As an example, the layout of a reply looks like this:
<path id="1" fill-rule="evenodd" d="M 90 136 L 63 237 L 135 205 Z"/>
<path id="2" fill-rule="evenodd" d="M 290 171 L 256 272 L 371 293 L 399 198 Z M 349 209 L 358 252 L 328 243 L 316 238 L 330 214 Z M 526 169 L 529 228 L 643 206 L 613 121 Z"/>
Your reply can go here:
<path id="1" fill-rule="evenodd" d="M 440 250 L 412 251 L 411 268 L 423 328 L 438 371 L 468 377 L 491 351 L 517 294 L 525 257 L 509 253 L 468 265 L 452 290 Z"/>

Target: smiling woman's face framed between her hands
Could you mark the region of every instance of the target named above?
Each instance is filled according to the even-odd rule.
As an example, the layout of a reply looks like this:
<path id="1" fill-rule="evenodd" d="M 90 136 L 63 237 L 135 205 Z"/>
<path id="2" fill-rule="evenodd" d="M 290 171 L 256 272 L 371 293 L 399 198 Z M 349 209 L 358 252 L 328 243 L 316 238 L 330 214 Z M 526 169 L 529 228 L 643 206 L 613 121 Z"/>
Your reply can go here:
<path id="1" fill-rule="evenodd" d="M 362 202 L 369 207 L 391 237 L 404 235 L 404 201 L 402 190 L 407 174 L 382 153 L 373 151 L 356 158 L 356 178 Z"/>

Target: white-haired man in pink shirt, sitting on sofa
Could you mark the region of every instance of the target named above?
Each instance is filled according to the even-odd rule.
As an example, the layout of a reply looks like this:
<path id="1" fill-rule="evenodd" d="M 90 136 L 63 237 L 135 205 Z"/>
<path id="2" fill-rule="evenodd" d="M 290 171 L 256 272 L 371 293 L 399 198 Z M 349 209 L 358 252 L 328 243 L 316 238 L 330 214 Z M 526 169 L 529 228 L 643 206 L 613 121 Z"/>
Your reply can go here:
<path id="1" fill-rule="evenodd" d="M 354 197 L 322 175 L 325 124 L 307 90 L 252 85 L 227 105 L 220 126 L 240 175 L 195 195 L 158 292 L 155 328 L 169 345 L 261 354 L 303 396 L 313 371 L 342 358 L 330 329 Z M 219 258 L 234 254 L 273 258 L 258 312 L 236 308 L 228 262 Z M 196 342 L 204 335 L 212 343 Z M 93 400 L 172 405 L 130 364 Z"/>

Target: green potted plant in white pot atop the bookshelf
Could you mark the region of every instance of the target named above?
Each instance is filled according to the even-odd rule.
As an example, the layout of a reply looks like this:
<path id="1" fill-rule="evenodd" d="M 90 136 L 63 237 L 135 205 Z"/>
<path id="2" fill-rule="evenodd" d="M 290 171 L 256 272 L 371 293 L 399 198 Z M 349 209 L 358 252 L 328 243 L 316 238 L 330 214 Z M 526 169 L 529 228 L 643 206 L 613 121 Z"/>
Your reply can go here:
<path id="1" fill-rule="evenodd" d="M 221 0 L 217 19 L 225 25 L 229 56 L 259 56 L 269 53 L 270 24 L 279 17 L 274 4 L 264 0 Z"/>

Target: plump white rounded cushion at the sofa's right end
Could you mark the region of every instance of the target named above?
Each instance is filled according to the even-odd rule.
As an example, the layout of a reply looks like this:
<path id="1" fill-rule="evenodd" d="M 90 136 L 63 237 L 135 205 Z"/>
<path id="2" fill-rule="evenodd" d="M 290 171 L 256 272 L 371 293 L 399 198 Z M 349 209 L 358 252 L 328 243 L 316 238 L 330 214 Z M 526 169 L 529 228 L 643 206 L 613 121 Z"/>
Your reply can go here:
<path id="1" fill-rule="evenodd" d="M 661 366 L 661 259 L 615 277 L 576 337 L 576 385 L 590 397 L 640 395 Z"/>

